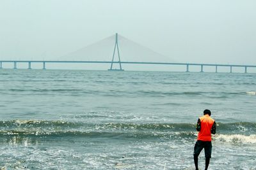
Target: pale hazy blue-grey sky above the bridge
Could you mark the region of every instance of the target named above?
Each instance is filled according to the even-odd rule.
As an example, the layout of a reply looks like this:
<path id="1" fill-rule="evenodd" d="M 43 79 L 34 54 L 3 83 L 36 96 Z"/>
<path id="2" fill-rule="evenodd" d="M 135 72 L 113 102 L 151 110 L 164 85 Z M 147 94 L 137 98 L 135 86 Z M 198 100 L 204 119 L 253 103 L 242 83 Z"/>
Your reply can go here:
<path id="1" fill-rule="evenodd" d="M 0 58 L 54 59 L 118 32 L 177 62 L 256 64 L 255 9 L 255 0 L 1 0 Z"/>

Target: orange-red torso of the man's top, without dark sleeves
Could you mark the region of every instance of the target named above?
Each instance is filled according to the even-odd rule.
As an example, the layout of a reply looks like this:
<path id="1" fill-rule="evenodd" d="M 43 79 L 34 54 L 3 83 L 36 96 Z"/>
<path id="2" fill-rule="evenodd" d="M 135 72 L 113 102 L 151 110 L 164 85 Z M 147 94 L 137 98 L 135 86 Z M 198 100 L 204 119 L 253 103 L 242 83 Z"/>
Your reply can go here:
<path id="1" fill-rule="evenodd" d="M 214 119 L 209 115 L 204 115 L 203 117 L 200 117 L 200 122 L 201 128 L 197 139 L 200 141 L 212 141 L 211 129 L 214 124 Z"/>

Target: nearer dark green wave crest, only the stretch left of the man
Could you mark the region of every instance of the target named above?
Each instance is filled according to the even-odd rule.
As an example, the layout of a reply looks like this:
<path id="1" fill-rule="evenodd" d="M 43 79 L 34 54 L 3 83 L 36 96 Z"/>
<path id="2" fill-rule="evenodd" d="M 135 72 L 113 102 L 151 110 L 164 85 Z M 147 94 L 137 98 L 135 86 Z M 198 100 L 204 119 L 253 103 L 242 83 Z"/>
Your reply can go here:
<path id="1" fill-rule="evenodd" d="M 0 131 L 0 138 L 113 138 L 113 139 L 194 139 L 196 132 L 145 132 L 145 131 Z"/>

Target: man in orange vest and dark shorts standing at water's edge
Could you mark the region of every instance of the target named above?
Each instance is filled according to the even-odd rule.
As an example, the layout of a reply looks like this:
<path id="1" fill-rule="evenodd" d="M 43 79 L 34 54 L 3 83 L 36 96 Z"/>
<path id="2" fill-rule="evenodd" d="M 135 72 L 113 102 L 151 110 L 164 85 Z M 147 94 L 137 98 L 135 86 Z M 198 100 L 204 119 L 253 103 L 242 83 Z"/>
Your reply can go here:
<path id="1" fill-rule="evenodd" d="M 199 131 L 197 141 L 194 148 L 194 162 L 196 170 L 198 170 L 198 156 L 204 148 L 205 153 L 205 170 L 208 169 L 211 153 L 212 153 L 212 137 L 211 134 L 216 133 L 215 120 L 211 118 L 211 111 L 204 110 L 204 116 L 198 118 L 196 131 Z"/>

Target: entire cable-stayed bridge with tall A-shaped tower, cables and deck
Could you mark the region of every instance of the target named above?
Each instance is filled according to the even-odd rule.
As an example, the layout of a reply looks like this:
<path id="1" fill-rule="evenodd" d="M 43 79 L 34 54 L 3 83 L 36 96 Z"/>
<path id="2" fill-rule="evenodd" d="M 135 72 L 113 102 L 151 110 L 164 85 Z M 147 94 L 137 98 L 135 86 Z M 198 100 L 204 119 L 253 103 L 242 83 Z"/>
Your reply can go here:
<path id="1" fill-rule="evenodd" d="M 69 53 L 67 56 L 64 57 L 60 57 L 60 60 L 0 60 L 0 69 L 3 69 L 3 64 L 4 63 L 13 63 L 13 69 L 17 69 L 17 64 L 18 63 L 28 63 L 28 69 L 32 69 L 31 65 L 33 63 L 42 63 L 42 69 L 46 69 L 46 64 L 47 63 L 70 63 L 70 64 L 76 64 L 76 63 L 91 63 L 91 64 L 109 64 L 109 71 L 124 71 L 122 64 L 150 64 L 150 65 L 166 65 L 166 66 L 184 66 L 184 71 L 189 72 L 189 66 L 198 66 L 200 68 L 200 72 L 204 72 L 204 67 L 215 67 L 215 72 L 218 73 L 218 67 L 229 67 L 230 69 L 230 73 L 232 73 L 232 69 L 234 67 L 243 67 L 244 68 L 244 73 L 248 73 L 248 67 L 256 67 L 254 65 L 240 65 L 240 64 L 202 64 L 202 63 L 180 63 L 180 62 L 157 62 L 157 61 L 140 61 L 141 58 L 143 60 L 143 57 L 147 57 L 148 52 L 150 52 L 150 55 L 153 55 L 154 57 L 156 57 L 157 59 L 166 59 L 166 56 L 161 55 L 160 53 L 157 52 L 153 52 L 152 50 L 145 48 L 144 46 L 138 45 L 137 43 L 134 43 L 133 41 L 130 41 L 129 39 L 126 39 L 124 37 L 121 36 L 122 42 L 125 45 L 125 42 L 132 42 L 132 45 L 136 45 L 133 46 L 133 48 L 129 48 L 127 50 L 127 52 L 131 52 L 132 50 L 136 49 L 136 48 L 143 48 L 144 52 L 143 53 L 139 53 L 140 57 L 136 57 L 135 61 L 122 61 L 121 60 L 121 54 L 120 54 L 120 45 L 119 45 L 119 37 L 118 34 L 115 34 L 115 40 L 114 40 L 114 50 L 113 53 L 111 55 L 111 60 L 105 61 L 105 60 L 83 60 L 84 59 L 84 51 L 88 51 L 88 46 L 86 46 L 86 48 L 81 48 L 79 50 L 77 50 L 76 52 L 72 52 Z M 113 40 L 113 36 L 103 39 L 103 41 L 107 42 L 109 44 L 109 41 Z M 102 43 L 102 41 L 100 41 L 100 43 Z M 110 43 L 111 44 L 111 43 Z M 98 43 L 95 43 L 94 45 L 90 45 L 89 47 L 92 46 L 97 46 L 99 45 Z M 122 46 L 123 47 L 123 46 Z M 97 51 L 96 49 L 92 50 L 93 48 L 91 48 L 91 51 L 93 52 L 99 52 L 99 50 Z M 113 49 L 113 48 L 112 48 Z M 109 50 L 109 48 L 108 48 Z M 89 50 L 90 51 L 90 50 Z M 103 52 L 103 55 L 106 55 Z M 129 54 L 131 55 L 131 54 Z M 78 58 L 77 60 L 68 60 L 67 58 L 70 58 L 70 56 L 72 57 L 76 57 Z M 77 57 L 78 56 L 78 57 Z M 95 55 L 94 58 L 97 58 L 99 56 Z M 80 59 L 79 59 L 80 57 Z M 66 58 L 66 59 L 65 59 Z M 115 58 L 117 60 L 115 60 Z M 167 57 L 168 58 L 168 57 Z M 147 58 L 146 58 L 147 59 Z M 118 65 L 118 69 L 113 69 L 113 64 L 117 64 Z"/>

